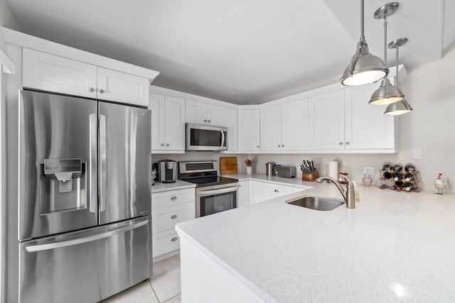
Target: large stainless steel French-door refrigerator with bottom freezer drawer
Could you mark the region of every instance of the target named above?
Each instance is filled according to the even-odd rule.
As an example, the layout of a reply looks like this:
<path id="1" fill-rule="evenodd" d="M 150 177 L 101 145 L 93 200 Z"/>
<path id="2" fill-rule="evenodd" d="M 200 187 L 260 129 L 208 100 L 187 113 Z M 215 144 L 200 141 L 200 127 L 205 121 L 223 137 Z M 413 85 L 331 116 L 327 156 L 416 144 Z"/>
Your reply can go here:
<path id="1" fill-rule="evenodd" d="M 150 111 L 19 94 L 19 302 L 97 302 L 151 276 Z"/>

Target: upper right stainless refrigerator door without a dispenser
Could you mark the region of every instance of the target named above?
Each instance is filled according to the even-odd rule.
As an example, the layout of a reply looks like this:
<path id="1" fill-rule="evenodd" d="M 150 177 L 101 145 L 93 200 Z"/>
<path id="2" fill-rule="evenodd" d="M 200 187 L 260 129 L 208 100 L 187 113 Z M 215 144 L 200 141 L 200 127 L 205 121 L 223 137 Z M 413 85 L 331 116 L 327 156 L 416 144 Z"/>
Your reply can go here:
<path id="1" fill-rule="evenodd" d="M 151 111 L 99 103 L 100 224 L 151 213 Z"/>

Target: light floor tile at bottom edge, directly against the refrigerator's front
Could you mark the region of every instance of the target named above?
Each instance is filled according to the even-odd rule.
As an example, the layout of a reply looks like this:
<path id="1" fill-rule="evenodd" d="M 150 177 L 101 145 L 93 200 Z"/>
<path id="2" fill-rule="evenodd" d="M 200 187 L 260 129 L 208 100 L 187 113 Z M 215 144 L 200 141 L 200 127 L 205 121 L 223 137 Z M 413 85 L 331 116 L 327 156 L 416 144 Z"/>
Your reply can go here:
<path id="1" fill-rule="evenodd" d="M 102 300 L 102 303 L 159 303 L 149 282 L 144 281 L 129 289 Z"/>

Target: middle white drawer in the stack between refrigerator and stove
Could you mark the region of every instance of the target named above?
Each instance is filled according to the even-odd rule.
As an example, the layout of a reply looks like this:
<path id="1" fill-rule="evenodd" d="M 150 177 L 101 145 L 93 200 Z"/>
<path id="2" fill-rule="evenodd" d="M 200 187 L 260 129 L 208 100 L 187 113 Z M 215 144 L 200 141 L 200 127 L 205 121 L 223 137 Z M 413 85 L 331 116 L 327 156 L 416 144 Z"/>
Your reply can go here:
<path id="1" fill-rule="evenodd" d="M 152 215 L 153 233 L 174 228 L 176 224 L 196 218 L 196 204 L 194 202 L 162 207 Z"/>

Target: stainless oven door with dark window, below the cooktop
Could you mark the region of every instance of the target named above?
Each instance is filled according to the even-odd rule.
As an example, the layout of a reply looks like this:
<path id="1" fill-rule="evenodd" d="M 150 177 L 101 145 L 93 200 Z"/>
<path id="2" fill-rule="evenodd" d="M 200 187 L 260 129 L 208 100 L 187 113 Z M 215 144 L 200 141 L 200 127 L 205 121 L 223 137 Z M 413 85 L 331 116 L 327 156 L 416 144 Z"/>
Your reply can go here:
<path id="1" fill-rule="evenodd" d="M 235 209 L 238 188 L 237 183 L 199 187 L 196 190 L 196 218 Z"/>

